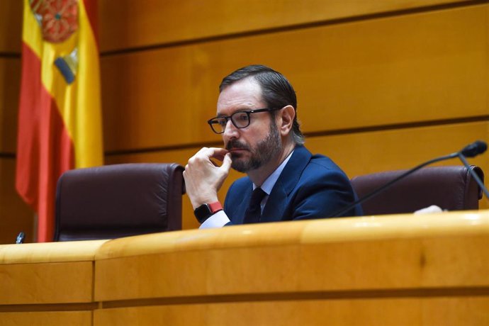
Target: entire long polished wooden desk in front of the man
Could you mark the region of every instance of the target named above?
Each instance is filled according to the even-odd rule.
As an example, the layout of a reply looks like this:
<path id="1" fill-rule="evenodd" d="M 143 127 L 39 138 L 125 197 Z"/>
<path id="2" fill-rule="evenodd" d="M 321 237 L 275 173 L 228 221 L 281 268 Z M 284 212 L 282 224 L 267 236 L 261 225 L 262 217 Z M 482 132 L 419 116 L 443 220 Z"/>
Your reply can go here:
<path id="1" fill-rule="evenodd" d="M 26 276 L 12 278 L 7 287 L 0 279 L 9 293 L 30 293 L 15 300 L 0 294 L 0 325 L 30 325 L 28 312 L 36 310 L 87 313 L 89 320 L 78 325 L 489 325 L 486 210 L 47 245 L 61 250 L 84 244 L 93 257 L 80 262 L 92 259 L 94 278 L 91 283 L 89 276 L 77 276 L 88 283 L 77 291 L 69 282 L 52 287 L 50 280 L 67 277 L 60 274 L 64 264 L 74 271 L 79 252 L 67 262 L 29 262 L 22 254 L 16 262 L 9 256 L 16 247 L 42 244 L 0 246 L 1 275 L 13 277 L 11 267 L 37 275 L 29 285 L 23 285 Z M 60 269 L 39 274 L 36 264 Z M 49 295 L 57 299 L 46 299 L 41 286 L 57 292 Z M 70 310 L 68 303 L 86 306 Z M 67 309 L 58 312 L 50 304 Z M 50 325 L 36 318 L 38 325 Z"/>

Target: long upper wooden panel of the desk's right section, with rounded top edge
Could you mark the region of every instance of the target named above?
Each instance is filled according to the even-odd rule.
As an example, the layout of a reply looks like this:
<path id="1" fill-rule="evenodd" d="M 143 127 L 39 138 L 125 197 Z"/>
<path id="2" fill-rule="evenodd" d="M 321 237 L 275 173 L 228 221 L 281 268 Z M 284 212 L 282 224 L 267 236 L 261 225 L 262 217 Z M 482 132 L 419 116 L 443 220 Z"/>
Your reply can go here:
<path id="1" fill-rule="evenodd" d="M 240 225 L 225 232 L 125 238 L 107 243 L 107 248 L 103 245 L 97 253 L 95 300 L 181 297 L 185 301 L 210 296 L 208 302 L 213 302 L 219 300 L 214 296 L 276 293 L 279 299 L 280 293 L 293 298 L 314 292 L 352 298 L 352 291 L 371 291 L 364 296 L 376 298 L 385 290 L 402 297 L 408 295 L 406 289 L 485 288 L 489 286 L 483 272 L 489 264 L 483 249 L 489 245 L 487 232 L 471 226 L 469 219 L 456 221 L 457 214 L 406 215 L 394 222 L 386 216 L 263 224 L 252 229 Z M 433 219 L 438 224 L 431 223 Z M 446 227 L 439 228 L 441 220 Z M 476 221 L 486 223 L 485 218 Z M 386 229 L 384 223 L 399 224 Z M 356 227 L 361 230 L 355 232 Z M 403 227 L 407 230 L 399 236 Z M 159 250 L 157 245 L 164 239 L 169 242 Z"/>

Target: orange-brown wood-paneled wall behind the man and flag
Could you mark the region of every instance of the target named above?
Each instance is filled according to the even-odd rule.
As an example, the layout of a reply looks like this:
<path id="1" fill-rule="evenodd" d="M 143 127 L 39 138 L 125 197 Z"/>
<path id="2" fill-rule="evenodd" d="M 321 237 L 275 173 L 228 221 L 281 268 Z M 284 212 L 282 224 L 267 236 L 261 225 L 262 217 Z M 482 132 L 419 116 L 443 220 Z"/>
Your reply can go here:
<path id="1" fill-rule="evenodd" d="M 202 145 L 220 145 L 205 123 L 215 113 L 217 86 L 253 63 L 288 77 L 306 145 L 349 176 L 408 168 L 487 141 L 489 4 L 474 3 L 101 0 L 106 163 L 185 164 Z M 9 154 L 21 8 L 16 0 L 0 6 L 0 54 L 13 54 L 0 56 L 0 153 Z M 0 157 L 0 223 L 30 223 L 7 156 Z M 471 162 L 489 171 L 487 154 Z M 239 176 L 231 174 L 222 199 Z M 15 232 L 3 225 L 0 242 L 9 242 Z M 183 225 L 198 226 L 188 198 Z"/>

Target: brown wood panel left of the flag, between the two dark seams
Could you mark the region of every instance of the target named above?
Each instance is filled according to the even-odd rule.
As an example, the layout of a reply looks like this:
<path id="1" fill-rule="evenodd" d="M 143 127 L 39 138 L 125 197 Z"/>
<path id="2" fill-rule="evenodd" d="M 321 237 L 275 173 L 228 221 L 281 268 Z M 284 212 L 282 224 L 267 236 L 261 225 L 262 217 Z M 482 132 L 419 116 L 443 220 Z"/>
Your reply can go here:
<path id="1" fill-rule="evenodd" d="M 0 57 L 0 153 L 16 152 L 21 60 Z"/>

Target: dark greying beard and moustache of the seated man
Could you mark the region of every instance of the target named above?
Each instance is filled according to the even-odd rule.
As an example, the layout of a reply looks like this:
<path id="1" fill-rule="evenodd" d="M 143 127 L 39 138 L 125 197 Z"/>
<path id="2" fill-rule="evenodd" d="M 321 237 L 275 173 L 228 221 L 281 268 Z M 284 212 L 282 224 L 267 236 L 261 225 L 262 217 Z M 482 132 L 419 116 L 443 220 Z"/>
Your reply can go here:
<path id="1" fill-rule="evenodd" d="M 282 141 L 279 129 L 272 120 L 270 123 L 270 132 L 264 140 L 258 142 L 257 147 L 250 149 L 237 140 L 231 140 L 227 143 L 227 150 L 231 148 L 244 148 L 252 154 L 250 159 L 240 159 L 240 154 L 231 152 L 231 167 L 238 172 L 247 173 L 251 170 L 258 169 L 264 164 L 274 159 L 282 150 Z"/>

